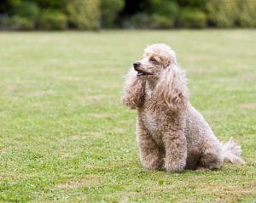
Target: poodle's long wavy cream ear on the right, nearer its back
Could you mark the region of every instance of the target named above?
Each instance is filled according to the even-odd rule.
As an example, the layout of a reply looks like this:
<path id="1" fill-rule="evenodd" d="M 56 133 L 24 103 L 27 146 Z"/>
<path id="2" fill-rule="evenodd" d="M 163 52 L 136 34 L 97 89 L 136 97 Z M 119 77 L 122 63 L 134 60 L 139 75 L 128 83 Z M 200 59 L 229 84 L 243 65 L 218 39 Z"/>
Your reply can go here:
<path id="1" fill-rule="evenodd" d="M 171 110 L 183 110 L 188 103 L 187 79 L 183 72 L 172 63 L 162 71 L 155 87 L 158 104 L 167 105 Z"/>

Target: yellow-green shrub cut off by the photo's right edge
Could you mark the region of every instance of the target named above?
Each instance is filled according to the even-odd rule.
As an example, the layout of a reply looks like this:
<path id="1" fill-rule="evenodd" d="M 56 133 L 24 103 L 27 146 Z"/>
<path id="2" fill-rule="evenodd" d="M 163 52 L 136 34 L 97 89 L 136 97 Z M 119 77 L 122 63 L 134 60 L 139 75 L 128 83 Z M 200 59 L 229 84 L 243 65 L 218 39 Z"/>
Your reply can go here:
<path id="1" fill-rule="evenodd" d="M 238 8 L 238 25 L 240 25 L 241 27 L 256 27 L 256 1 L 238 0 Z"/>

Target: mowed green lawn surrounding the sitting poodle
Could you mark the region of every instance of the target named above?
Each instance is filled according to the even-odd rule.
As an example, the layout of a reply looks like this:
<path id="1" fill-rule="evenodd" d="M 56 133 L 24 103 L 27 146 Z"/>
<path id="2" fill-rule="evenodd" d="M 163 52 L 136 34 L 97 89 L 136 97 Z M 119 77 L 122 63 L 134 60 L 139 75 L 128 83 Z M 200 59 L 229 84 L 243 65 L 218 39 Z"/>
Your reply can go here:
<path id="1" fill-rule="evenodd" d="M 138 160 L 136 111 L 120 102 L 143 48 L 165 42 L 190 102 L 244 166 L 151 172 Z M 0 33 L 0 200 L 255 202 L 256 31 Z"/>

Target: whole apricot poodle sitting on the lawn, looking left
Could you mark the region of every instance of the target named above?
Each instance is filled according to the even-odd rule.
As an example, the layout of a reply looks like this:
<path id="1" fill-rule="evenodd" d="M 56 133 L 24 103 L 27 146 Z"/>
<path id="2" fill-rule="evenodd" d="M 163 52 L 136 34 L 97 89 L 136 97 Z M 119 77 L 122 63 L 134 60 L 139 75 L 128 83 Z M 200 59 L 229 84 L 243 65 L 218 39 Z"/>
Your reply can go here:
<path id="1" fill-rule="evenodd" d="M 145 48 L 125 80 L 123 104 L 137 110 L 140 160 L 149 170 L 207 171 L 224 162 L 244 163 L 232 138 L 219 142 L 189 103 L 186 76 L 166 44 Z"/>

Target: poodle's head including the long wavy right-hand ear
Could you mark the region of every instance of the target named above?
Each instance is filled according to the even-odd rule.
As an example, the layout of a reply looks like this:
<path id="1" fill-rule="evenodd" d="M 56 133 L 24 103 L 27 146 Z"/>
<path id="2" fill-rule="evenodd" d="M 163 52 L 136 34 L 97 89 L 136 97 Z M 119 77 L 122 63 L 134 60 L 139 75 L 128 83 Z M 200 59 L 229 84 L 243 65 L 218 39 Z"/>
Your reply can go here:
<path id="1" fill-rule="evenodd" d="M 153 44 L 145 49 L 143 59 L 133 65 L 137 77 L 145 78 L 153 88 L 157 103 L 171 110 L 183 110 L 188 104 L 187 80 L 177 66 L 176 54 L 166 44 Z"/>

